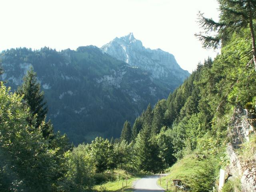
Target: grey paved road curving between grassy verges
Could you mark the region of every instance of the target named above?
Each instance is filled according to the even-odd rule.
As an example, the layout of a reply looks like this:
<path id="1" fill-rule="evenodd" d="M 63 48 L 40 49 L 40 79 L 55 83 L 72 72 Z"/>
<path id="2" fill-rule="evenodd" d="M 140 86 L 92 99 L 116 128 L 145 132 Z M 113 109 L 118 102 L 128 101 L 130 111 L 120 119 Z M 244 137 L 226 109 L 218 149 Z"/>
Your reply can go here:
<path id="1" fill-rule="evenodd" d="M 158 175 L 141 178 L 134 183 L 134 192 L 164 192 L 163 188 L 156 184 Z"/>

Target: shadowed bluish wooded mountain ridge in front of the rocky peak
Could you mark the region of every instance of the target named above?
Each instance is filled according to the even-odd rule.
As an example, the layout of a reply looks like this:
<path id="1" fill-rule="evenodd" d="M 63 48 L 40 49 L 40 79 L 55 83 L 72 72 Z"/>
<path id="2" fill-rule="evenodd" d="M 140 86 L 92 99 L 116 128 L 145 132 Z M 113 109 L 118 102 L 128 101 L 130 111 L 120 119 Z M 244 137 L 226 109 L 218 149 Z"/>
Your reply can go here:
<path id="1" fill-rule="evenodd" d="M 61 52 L 18 48 L 3 51 L 0 58 L 1 80 L 13 91 L 33 66 L 48 102 L 48 118 L 75 144 L 96 136 L 119 137 L 124 120 L 133 122 L 149 102 L 166 97 L 170 89 L 155 84 L 150 72 L 95 46 Z"/>

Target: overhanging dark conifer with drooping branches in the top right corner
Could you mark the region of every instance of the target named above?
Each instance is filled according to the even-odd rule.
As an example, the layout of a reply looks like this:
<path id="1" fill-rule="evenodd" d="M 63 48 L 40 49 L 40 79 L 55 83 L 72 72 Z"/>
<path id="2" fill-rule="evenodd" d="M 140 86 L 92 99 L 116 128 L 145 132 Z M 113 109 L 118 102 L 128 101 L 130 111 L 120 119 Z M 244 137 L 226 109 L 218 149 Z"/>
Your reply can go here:
<path id="1" fill-rule="evenodd" d="M 234 31 L 239 32 L 242 28 L 250 27 L 252 40 L 252 54 L 256 70 L 256 43 L 253 20 L 256 19 L 256 0 L 218 0 L 220 7 L 220 21 L 205 18 L 200 14 L 200 24 L 208 32 L 217 32 L 215 36 L 196 34 L 206 48 L 216 48 L 220 42 L 225 44 Z"/>

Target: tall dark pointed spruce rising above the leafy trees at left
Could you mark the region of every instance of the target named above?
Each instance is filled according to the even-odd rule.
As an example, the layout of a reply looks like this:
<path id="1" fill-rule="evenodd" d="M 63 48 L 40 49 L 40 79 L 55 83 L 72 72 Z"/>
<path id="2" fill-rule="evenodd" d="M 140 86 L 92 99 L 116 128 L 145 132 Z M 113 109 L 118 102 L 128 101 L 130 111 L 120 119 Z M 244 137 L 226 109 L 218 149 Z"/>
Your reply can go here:
<path id="1" fill-rule="evenodd" d="M 48 111 L 44 101 L 44 92 L 40 91 L 40 83 L 33 68 L 28 70 L 23 78 L 23 84 L 18 87 L 18 94 L 23 95 L 24 103 L 30 107 L 32 115 L 36 115 L 36 127 L 38 128 L 46 118 Z"/>

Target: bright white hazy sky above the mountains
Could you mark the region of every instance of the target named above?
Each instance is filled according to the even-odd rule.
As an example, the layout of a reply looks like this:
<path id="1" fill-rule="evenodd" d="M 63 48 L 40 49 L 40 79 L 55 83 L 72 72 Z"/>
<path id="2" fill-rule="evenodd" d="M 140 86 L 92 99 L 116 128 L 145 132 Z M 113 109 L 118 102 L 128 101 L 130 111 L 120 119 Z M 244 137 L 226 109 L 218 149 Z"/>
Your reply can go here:
<path id="1" fill-rule="evenodd" d="M 2 0 L 0 50 L 101 47 L 133 32 L 146 48 L 174 54 L 189 72 L 216 52 L 194 33 L 198 10 L 218 19 L 216 0 Z"/>

